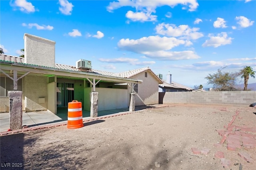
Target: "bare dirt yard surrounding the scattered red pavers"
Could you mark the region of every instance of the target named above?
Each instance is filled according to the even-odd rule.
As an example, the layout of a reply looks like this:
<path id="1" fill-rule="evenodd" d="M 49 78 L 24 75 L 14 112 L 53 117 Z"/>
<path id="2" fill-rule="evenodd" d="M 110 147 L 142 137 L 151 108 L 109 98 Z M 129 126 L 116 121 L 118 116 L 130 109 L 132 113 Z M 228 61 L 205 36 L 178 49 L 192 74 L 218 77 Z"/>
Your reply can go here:
<path id="1" fill-rule="evenodd" d="M 242 170 L 252 170 L 255 147 L 227 150 L 227 141 L 214 146 L 222 140 L 216 130 L 225 130 L 236 111 L 232 125 L 255 130 L 252 107 L 170 105 L 88 122 L 78 129 L 61 126 L 2 136 L 1 169 L 239 170 L 241 164 Z M 256 132 L 246 133 L 255 140 Z M 210 152 L 194 154 L 192 147 Z M 214 156 L 217 151 L 230 160 L 228 168 Z M 253 161 L 240 158 L 241 151 Z M 7 163 L 21 163 L 22 168 L 6 168 Z"/>

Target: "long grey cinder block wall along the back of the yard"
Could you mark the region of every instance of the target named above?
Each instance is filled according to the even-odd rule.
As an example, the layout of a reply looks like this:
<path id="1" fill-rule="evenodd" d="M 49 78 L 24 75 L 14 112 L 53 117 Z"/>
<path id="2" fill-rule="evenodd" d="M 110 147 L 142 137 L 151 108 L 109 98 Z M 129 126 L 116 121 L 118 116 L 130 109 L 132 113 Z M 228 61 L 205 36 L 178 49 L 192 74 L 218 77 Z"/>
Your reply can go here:
<path id="1" fill-rule="evenodd" d="M 166 92 L 164 104 L 249 106 L 256 102 L 256 91 Z"/>

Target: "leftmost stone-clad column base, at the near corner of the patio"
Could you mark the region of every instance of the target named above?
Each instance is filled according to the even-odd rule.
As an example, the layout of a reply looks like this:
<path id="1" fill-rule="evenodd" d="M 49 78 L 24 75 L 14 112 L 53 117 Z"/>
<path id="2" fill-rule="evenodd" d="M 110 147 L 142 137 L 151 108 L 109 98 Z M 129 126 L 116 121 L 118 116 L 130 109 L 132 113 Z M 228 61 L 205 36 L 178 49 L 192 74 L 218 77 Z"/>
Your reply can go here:
<path id="1" fill-rule="evenodd" d="M 22 128 L 22 91 L 8 91 L 10 99 L 10 129 Z"/>

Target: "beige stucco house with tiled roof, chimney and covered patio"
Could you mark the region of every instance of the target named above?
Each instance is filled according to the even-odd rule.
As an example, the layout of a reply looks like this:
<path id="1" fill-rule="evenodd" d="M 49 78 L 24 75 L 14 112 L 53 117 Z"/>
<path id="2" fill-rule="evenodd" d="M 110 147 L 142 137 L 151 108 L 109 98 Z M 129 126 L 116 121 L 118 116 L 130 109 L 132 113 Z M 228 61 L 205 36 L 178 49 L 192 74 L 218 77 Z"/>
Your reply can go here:
<path id="1" fill-rule="evenodd" d="M 98 92 L 98 111 L 129 107 L 132 91 L 136 105 L 158 103 L 162 81 L 149 67 L 110 73 L 58 64 L 55 42 L 30 34 L 24 34 L 24 51 L 24 58 L 0 54 L 0 112 L 8 112 L 11 90 L 22 91 L 24 111 L 57 113 L 72 100 L 90 111 L 92 92 Z"/>

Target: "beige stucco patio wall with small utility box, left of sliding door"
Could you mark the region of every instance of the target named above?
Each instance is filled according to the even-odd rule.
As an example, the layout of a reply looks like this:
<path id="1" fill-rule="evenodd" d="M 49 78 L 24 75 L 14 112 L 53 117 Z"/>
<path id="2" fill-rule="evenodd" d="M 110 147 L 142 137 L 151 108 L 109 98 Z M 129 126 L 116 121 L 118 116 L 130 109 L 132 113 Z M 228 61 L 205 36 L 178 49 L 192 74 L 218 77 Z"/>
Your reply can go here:
<path id="1" fill-rule="evenodd" d="M 47 77 L 26 75 L 23 78 L 23 96 L 26 111 L 47 110 Z M 38 98 L 45 98 L 45 103 L 39 103 Z"/>

